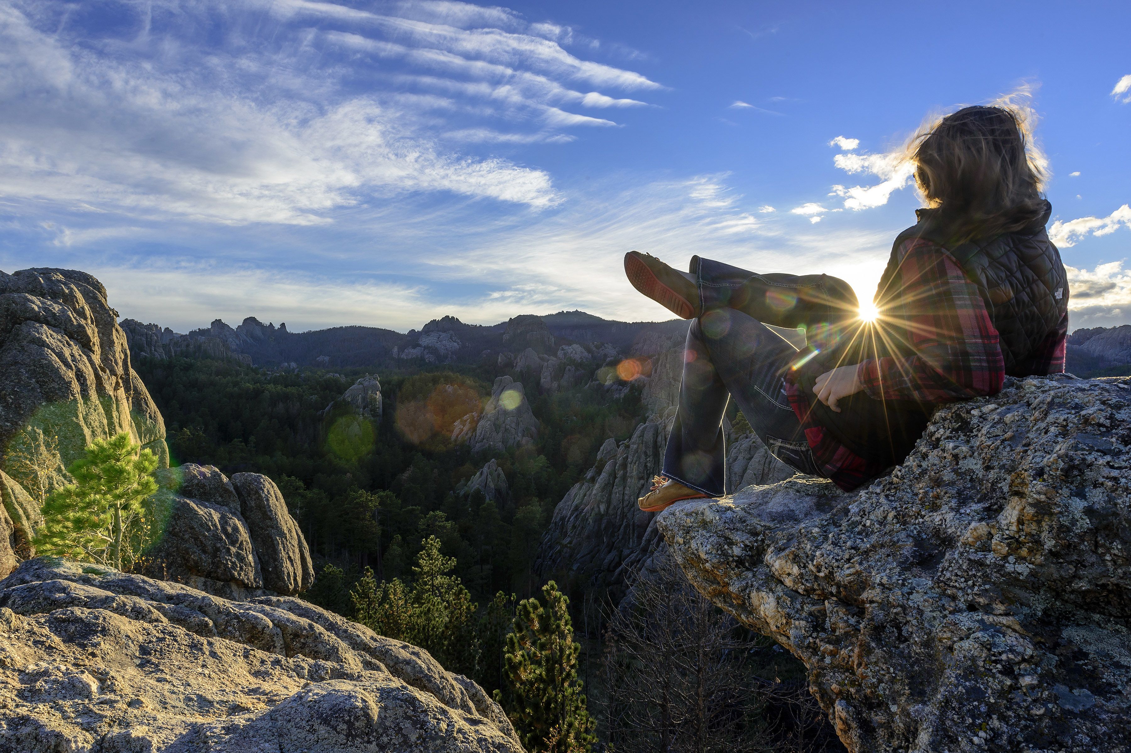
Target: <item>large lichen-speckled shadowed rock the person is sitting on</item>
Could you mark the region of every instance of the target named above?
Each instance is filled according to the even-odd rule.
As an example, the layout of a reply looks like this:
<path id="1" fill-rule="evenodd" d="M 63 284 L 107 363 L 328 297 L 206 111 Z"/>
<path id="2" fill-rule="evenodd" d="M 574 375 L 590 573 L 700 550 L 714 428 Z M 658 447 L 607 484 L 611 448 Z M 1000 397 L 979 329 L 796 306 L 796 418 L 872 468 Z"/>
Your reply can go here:
<path id="1" fill-rule="evenodd" d="M 1007 379 L 864 490 L 795 477 L 657 523 L 856 753 L 1131 744 L 1128 384 Z"/>

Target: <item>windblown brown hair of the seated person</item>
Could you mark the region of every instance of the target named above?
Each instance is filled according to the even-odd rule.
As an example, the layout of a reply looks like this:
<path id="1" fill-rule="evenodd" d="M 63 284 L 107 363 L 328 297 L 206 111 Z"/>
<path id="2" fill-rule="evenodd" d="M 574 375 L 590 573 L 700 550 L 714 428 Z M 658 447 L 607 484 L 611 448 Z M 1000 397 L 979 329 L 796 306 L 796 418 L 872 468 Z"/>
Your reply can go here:
<path id="1" fill-rule="evenodd" d="M 950 242 L 1015 232 L 1042 216 L 1044 157 L 1030 122 L 1027 109 L 1005 101 L 962 108 L 912 138 L 926 216 Z"/>

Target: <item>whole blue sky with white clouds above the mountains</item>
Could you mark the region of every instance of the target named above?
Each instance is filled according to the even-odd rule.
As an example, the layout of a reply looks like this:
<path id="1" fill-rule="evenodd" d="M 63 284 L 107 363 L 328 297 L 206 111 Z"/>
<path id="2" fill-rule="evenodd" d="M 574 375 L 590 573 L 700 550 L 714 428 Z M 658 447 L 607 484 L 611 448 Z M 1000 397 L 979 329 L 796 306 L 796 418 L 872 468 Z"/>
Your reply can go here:
<path id="1" fill-rule="evenodd" d="M 122 316 L 668 318 L 625 250 L 870 298 L 932 113 L 1028 91 L 1072 326 L 1131 323 L 1131 6 L 0 0 L 0 269 Z"/>

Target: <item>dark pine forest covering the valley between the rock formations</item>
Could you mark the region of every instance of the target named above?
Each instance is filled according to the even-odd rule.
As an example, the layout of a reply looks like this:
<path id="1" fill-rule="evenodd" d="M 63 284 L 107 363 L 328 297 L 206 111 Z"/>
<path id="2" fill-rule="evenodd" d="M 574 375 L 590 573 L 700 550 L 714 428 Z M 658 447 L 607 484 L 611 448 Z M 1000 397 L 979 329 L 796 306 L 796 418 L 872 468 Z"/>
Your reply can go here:
<path id="1" fill-rule="evenodd" d="M 577 386 L 526 393 L 539 419 L 535 444 L 473 454 L 451 440 L 455 422 L 490 396 L 491 369 L 382 378 L 385 420 L 334 404 L 360 374 L 270 373 L 232 360 L 143 358 L 137 365 L 165 417 L 173 462 L 254 469 L 279 485 L 316 559 L 355 580 L 406 573 L 429 534 L 456 557 L 478 599 L 527 596 L 530 566 L 553 506 L 593 465 L 607 438 L 628 438 L 640 392 Z M 409 417 L 426 413 L 421 433 Z M 407 431 L 406 431 L 407 429 Z M 463 493 L 489 460 L 508 493 Z"/>

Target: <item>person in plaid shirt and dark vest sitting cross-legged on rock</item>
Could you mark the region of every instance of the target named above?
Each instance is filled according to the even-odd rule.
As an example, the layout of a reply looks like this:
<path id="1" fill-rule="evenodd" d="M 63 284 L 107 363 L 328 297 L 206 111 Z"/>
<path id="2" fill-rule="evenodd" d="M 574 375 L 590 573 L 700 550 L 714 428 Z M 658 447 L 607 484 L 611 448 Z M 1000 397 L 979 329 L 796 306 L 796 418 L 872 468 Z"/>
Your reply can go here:
<path id="1" fill-rule="evenodd" d="M 1010 104 L 968 106 L 909 142 L 927 208 L 892 245 L 872 320 L 829 275 L 698 256 L 683 273 L 627 254 L 632 285 L 692 320 L 662 476 L 640 508 L 726 491 L 731 395 L 774 456 L 852 490 L 901 462 L 940 403 L 1063 371 L 1068 280 L 1027 123 Z M 805 346 L 766 325 L 803 330 Z"/>

